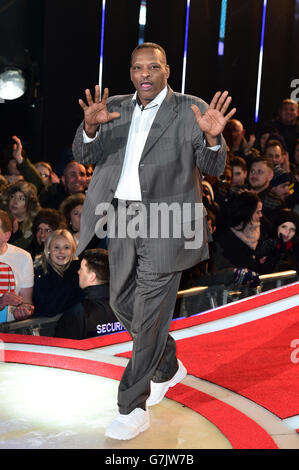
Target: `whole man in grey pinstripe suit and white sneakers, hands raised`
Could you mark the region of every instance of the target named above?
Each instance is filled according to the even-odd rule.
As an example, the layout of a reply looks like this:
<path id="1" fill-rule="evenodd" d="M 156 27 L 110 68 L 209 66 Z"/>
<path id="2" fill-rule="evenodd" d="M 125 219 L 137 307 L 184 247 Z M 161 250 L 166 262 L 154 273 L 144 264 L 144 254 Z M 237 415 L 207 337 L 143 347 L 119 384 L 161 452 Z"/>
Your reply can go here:
<path id="1" fill-rule="evenodd" d="M 108 210 L 110 303 L 133 338 L 132 358 L 119 385 L 119 413 L 106 430 L 115 439 L 145 431 L 148 407 L 186 375 L 169 328 L 182 270 L 208 258 L 201 175 L 223 172 L 221 132 L 235 113 L 235 108 L 227 112 L 228 92 L 217 92 L 209 106 L 173 92 L 169 72 L 163 48 L 144 43 L 131 57 L 134 95 L 108 98 L 105 89 L 101 99 L 96 85 L 94 98 L 86 90 L 87 103 L 79 100 L 84 121 L 73 153 L 79 162 L 96 166 L 81 215 L 78 253 L 101 231 L 99 215 L 108 203 L 113 209 Z M 174 208 L 167 213 L 166 236 L 152 210 L 161 203 Z M 165 228 L 165 212 L 162 219 Z M 120 235 L 123 221 L 137 235 L 136 230 Z"/>

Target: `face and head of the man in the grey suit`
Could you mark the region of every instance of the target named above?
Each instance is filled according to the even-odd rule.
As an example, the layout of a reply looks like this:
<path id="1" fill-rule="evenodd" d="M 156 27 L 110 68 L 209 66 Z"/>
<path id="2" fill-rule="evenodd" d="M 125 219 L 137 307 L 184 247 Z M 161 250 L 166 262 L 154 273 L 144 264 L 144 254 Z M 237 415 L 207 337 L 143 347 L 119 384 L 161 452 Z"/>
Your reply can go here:
<path id="1" fill-rule="evenodd" d="M 146 106 L 166 87 L 169 66 L 159 49 L 143 48 L 133 54 L 130 75 L 141 103 Z"/>

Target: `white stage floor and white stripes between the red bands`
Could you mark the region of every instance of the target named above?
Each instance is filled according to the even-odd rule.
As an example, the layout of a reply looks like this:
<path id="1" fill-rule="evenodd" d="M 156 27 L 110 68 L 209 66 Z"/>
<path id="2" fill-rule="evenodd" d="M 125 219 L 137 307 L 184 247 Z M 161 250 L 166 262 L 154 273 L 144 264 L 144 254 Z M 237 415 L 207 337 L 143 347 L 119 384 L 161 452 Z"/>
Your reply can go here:
<path id="1" fill-rule="evenodd" d="M 288 307 L 298 306 L 298 297 L 287 297 L 283 302 Z M 272 314 L 276 306 L 276 303 L 271 306 Z M 172 335 L 178 339 L 231 328 L 258 318 L 256 310 L 260 318 L 269 314 L 265 308 L 252 309 L 228 319 L 173 331 Z M 168 398 L 150 409 L 151 427 L 137 438 L 131 441 L 105 438 L 104 431 L 117 411 L 118 380 L 55 364 L 50 367 L 5 361 L 6 352 L 18 352 L 21 356 L 53 355 L 124 367 L 127 359 L 115 355 L 128 351 L 130 345 L 126 342 L 82 351 L 6 339 L 0 362 L 0 449 L 232 449 L 229 436 L 215 423 Z M 299 449 L 298 416 L 281 420 L 251 400 L 190 375 L 182 383 L 253 420 L 278 449 Z"/>

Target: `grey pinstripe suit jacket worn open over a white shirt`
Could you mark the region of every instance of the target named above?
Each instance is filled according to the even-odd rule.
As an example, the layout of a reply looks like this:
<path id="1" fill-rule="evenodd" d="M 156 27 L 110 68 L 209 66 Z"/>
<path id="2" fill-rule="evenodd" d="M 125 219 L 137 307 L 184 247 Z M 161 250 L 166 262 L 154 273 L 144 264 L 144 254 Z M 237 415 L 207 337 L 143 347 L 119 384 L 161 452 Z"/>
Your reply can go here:
<path id="1" fill-rule="evenodd" d="M 81 253 L 95 233 L 97 204 L 111 202 L 121 174 L 132 114 L 133 95 L 108 99 L 109 111 L 120 118 L 101 126 L 98 137 L 83 142 L 83 123 L 73 142 L 74 158 L 80 163 L 96 164 L 81 215 Z M 190 106 L 195 103 L 201 112 L 207 104 L 194 96 L 173 92 L 161 104 L 149 132 L 139 164 L 139 179 L 144 204 L 150 202 L 201 202 L 201 173 L 220 175 L 225 166 L 226 145 L 219 137 L 220 149 L 215 152 L 204 144 Z M 205 219 L 205 218 L 204 218 Z M 185 219 L 186 222 L 186 219 Z M 210 234 L 206 220 L 200 248 L 185 249 L 185 238 L 146 239 L 153 272 L 175 272 L 208 258 Z"/>

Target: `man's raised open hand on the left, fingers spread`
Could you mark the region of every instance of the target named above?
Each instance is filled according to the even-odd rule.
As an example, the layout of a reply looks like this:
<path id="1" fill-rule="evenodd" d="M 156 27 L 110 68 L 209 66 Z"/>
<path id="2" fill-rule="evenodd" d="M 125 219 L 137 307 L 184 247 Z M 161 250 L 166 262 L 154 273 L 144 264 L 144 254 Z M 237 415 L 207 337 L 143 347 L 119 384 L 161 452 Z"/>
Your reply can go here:
<path id="1" fill-rule="evenodd" d="M 85 90 L 87 104 L 79 99 L 79 105 L 84 111 L 84 130 L 89 137 L 94 137 L 101 124 L 112 121 L 120 116 L 119 113 L 109 113 L 107 109 L 107 99 L 109 91 L 104 89 L 102 99 L 100 99 L 100 87 L 95 86 L 94 99 L 90 90 Z"/>

